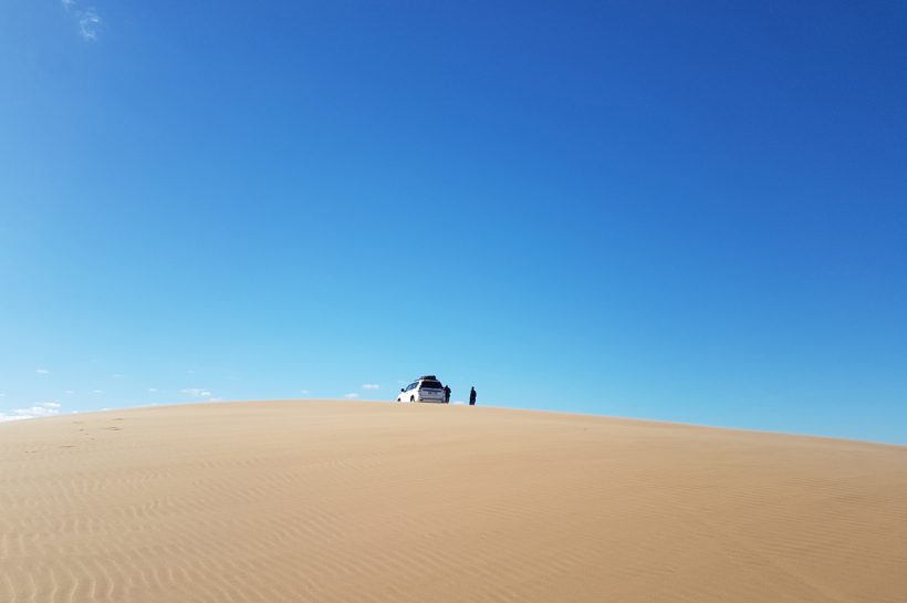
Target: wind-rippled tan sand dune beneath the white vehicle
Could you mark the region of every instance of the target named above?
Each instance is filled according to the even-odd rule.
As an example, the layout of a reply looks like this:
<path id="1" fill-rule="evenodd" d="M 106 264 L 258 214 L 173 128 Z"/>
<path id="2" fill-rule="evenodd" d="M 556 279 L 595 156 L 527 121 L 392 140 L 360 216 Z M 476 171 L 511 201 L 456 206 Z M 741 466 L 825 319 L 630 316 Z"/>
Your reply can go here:
<path id="1" fill-rule="evenodd" d="M 907 602 L 907 448 L 351 402 L 0 425 L 0 601 Z"/>

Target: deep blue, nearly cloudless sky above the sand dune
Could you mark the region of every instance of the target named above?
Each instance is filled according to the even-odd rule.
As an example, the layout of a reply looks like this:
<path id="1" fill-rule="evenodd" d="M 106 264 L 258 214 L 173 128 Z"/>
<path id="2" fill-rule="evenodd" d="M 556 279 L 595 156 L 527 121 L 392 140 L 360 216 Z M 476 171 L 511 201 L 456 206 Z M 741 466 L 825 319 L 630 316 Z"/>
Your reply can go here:
<path id="1" fill-rule="evenodd" d="M 904 2 L 0 11 L 3 417 L 436 373 L 907 444 Z"/>

